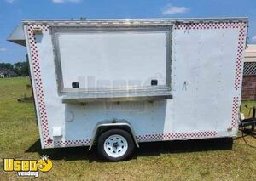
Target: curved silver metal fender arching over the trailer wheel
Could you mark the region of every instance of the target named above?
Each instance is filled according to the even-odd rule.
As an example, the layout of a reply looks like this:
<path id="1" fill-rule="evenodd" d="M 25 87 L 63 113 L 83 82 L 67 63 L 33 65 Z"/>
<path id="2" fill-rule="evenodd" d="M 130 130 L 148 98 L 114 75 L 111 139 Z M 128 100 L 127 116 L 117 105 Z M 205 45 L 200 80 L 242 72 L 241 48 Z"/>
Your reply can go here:
<path id="1" fill-rule="evenodd" d="M 115 127 L 115 128 L 120 127 L 120 128 L 125 128 L 126 130 L 128 130 L 131 133 L 131 137 L 133 138 L 134 143 L 136 144 L 137 148 L 139 148 L 136 134 L 134 132 L 134 129 L 131 127 L 130 122 L 127 122 L 126 120 L 115 120 L 114 119 L 114 120 L 98 122 L 96 124 L 96 127 L 94 128 L 94 130 L 92 132 L 89 150 L 91 150 L 92 145 L 95 143 L 98 134 L 101 133 L 102 130 L 106 130 L 106 129 L 113 128 L 113 127 Z"/>

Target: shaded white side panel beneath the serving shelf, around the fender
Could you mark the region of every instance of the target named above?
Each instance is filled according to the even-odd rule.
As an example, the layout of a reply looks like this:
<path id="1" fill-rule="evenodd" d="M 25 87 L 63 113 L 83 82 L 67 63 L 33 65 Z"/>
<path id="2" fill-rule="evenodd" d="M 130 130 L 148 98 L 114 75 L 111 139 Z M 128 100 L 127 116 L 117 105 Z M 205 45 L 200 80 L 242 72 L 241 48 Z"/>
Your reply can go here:
<path id="1" fill-rule="evenodd" d="M 66 105 L 66 139 L 90 139 L 96 123 L 125 119 L 137 135 L 168 133 L 165 129 L 166 100 L 150 102 L 89 103 Z M 79 125 L 79 126 L 78 126 Z"/>

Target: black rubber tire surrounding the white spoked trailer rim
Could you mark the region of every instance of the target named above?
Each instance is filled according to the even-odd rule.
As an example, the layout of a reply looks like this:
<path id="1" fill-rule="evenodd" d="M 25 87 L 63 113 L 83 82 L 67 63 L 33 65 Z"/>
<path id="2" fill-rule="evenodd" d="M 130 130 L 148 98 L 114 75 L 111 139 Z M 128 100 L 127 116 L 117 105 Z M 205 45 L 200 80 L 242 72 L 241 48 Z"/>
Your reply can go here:
<path id="1" fill-rule="evenodd" d="M 122 136 L 127 142 L 127 150 L 125 151 L 124 155 L 119 157 L 109 156 L 108 153 L 104 150 L 104 143 L 106 139 L 113 135 L 120 135 Z M 102 156 L 102 158 L 108 161 L 123 161 L 129 158 L 134 150 L 134 141 L 131 137 L 131 134 L 123 129 L 110 129 L 104 133 L 102 133 L 97 139 L 97 150 L 98 154 Z"/>

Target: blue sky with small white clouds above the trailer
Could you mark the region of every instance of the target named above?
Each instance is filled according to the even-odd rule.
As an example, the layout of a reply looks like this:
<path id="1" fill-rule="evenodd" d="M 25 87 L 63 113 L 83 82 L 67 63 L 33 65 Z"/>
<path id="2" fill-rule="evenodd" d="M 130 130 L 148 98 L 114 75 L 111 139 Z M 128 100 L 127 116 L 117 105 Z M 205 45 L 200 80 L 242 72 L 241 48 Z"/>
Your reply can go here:
<path id="1" fill-rule="evenodd" d="M 248 17 L 256 43 L 256 0 L 0 0 L 0 62 L 25 59 L 26 48 L 7 42 L 22 19 Z"/>

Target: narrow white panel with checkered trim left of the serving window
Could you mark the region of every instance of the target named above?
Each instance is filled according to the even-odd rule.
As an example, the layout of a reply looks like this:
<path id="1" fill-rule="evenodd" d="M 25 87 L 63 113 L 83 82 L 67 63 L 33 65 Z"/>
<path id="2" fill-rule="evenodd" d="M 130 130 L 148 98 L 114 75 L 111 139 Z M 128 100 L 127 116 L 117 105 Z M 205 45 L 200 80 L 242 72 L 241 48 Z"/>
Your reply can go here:
<path id="1" fill-rule="evenodd" d="M 41 28 L 41 31 L 38 33 L 34 28 Z M 53 147 L 53 127 L 65 128 L 65 110 L 57 93 L 51 36 L 46 25 L 27 25 L 25 31 L 41 144 L 42 148 L 50 148 Z M 55 139 L 64 138 L 65 133 Z"/>

